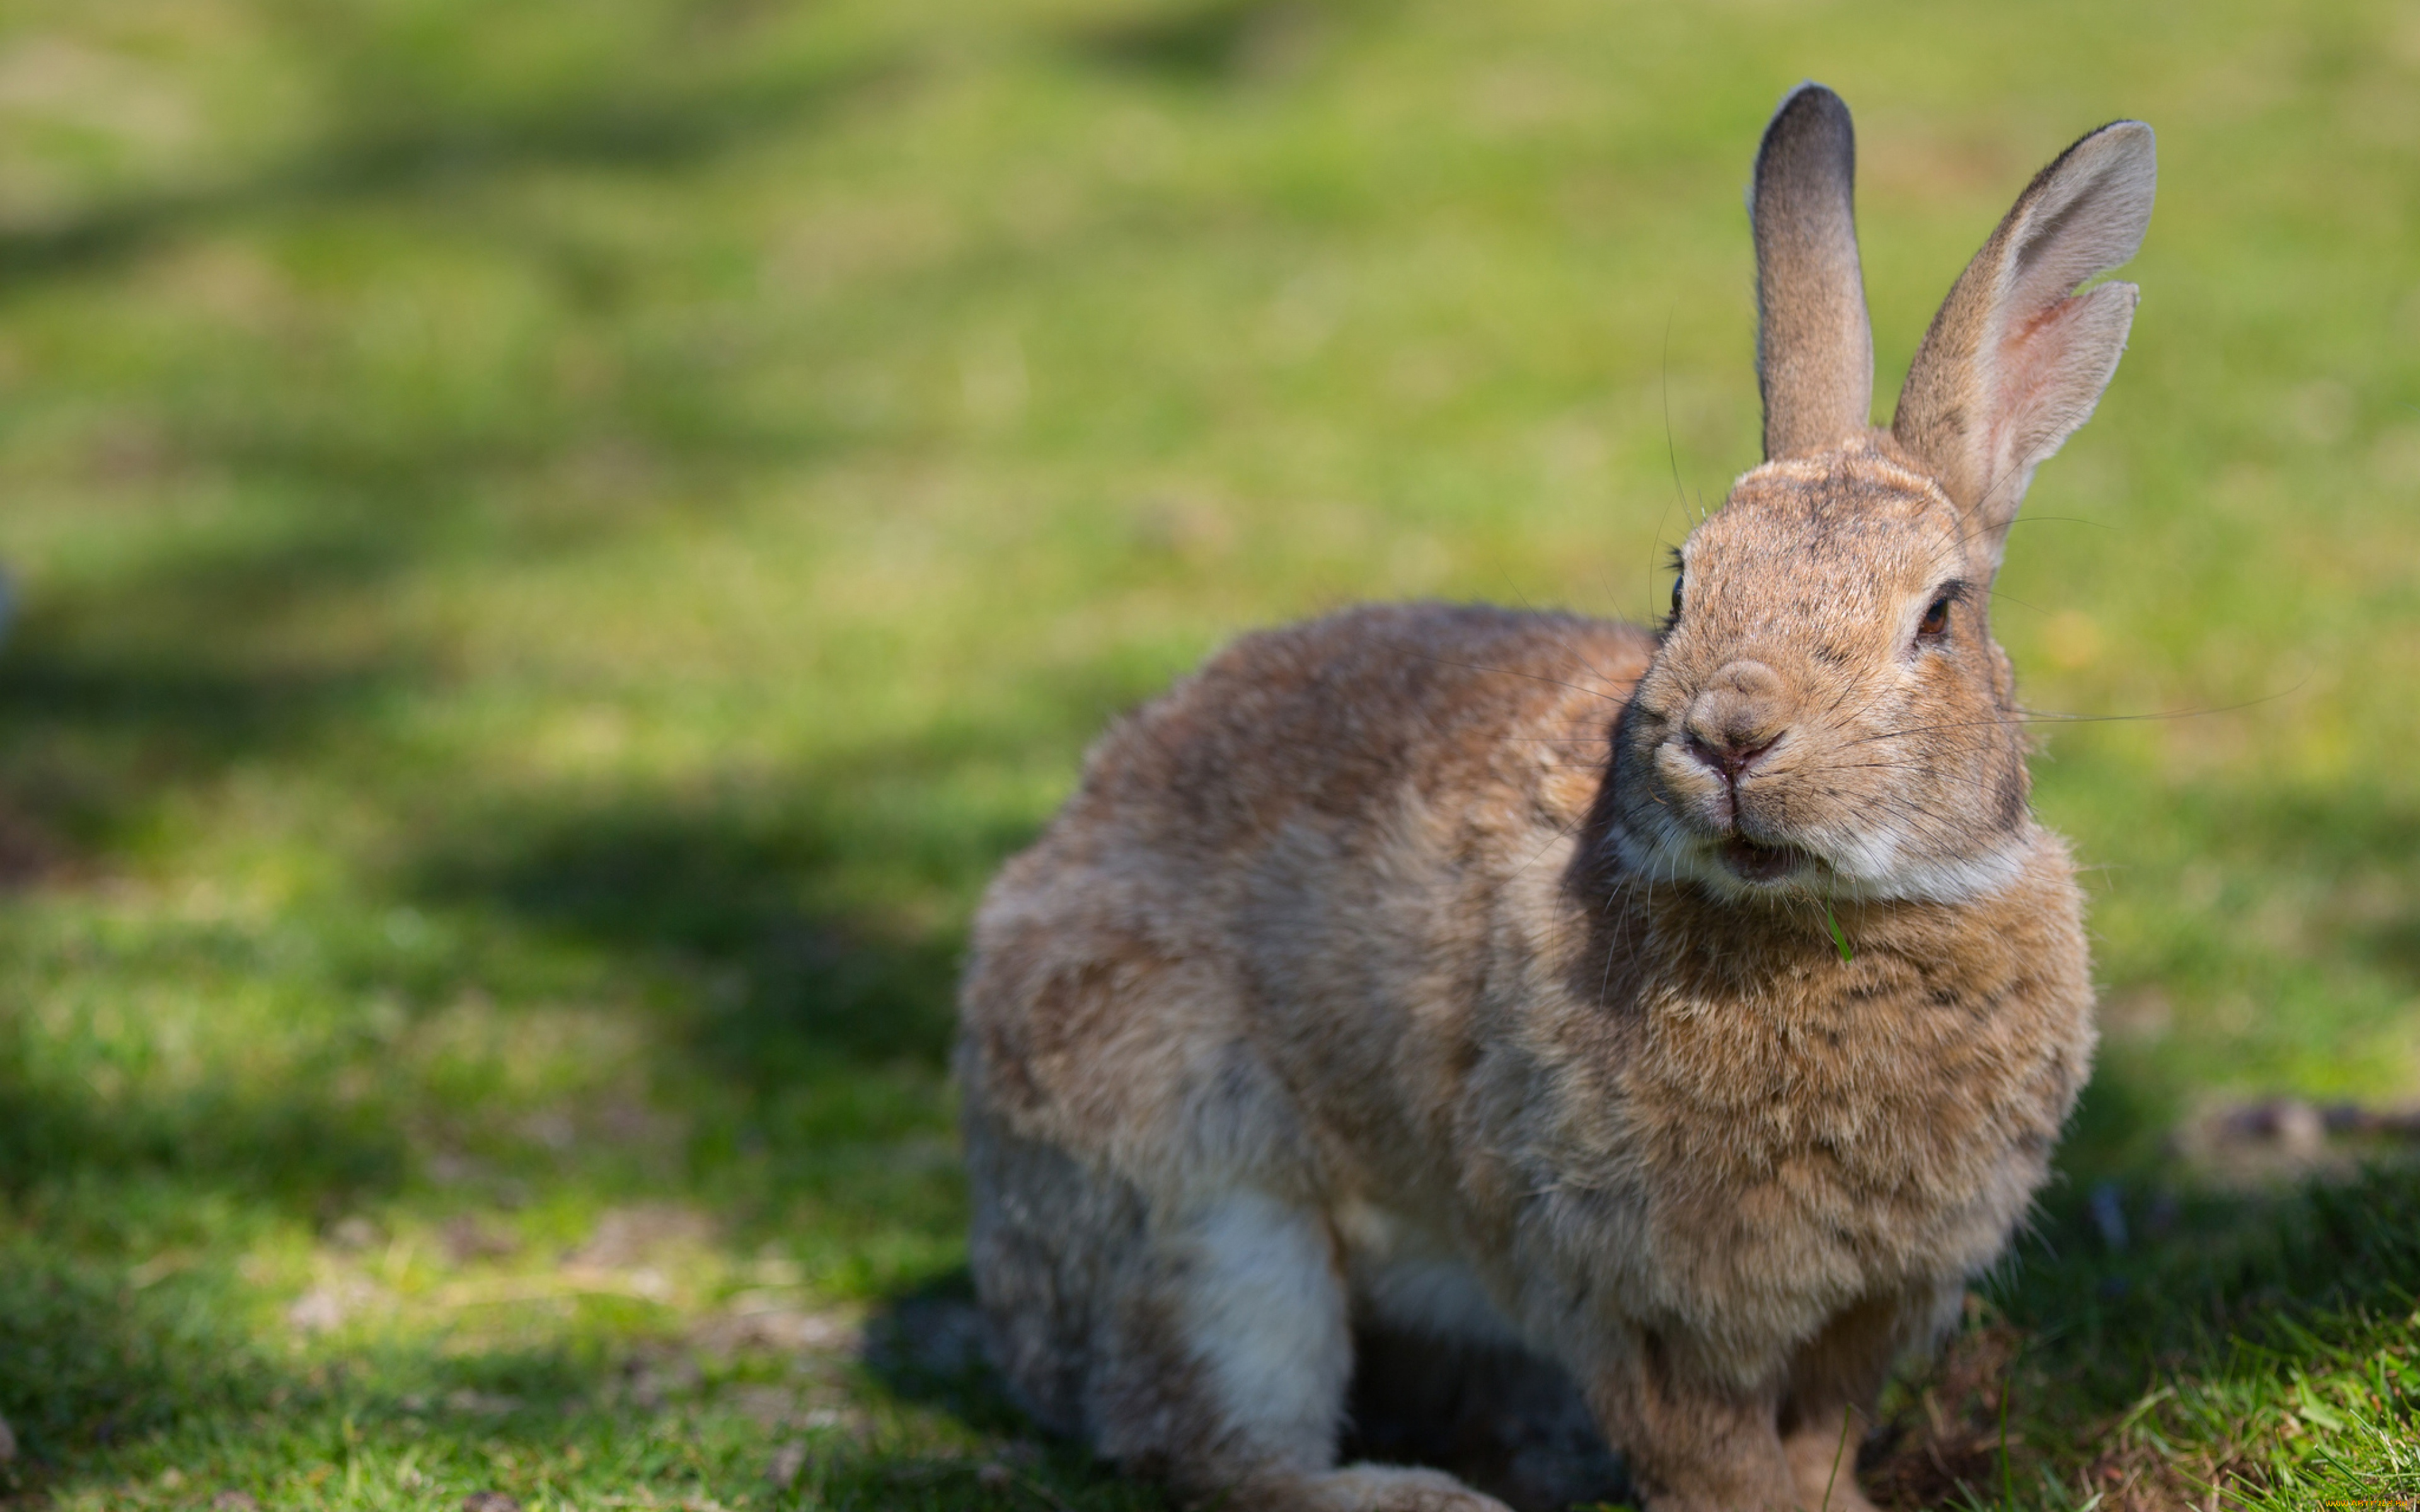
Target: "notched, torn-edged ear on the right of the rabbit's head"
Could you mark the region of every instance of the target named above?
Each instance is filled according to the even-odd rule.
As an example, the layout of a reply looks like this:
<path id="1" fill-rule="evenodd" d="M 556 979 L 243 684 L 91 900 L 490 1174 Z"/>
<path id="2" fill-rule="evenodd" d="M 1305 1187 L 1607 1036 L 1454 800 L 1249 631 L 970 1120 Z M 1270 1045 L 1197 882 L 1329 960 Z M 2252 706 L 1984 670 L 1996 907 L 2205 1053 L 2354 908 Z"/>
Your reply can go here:
<path id="1" fill-rule="evenodd" d="M 2033 469 L 2091 419 L 2118 373 L 2139 290 L 2076 285 L 2142 247 L 2156 167 L 2142 121 L 2059 152 L 1951 288 L 1907 370 L 1890 431 L 1994 561 Z"/>

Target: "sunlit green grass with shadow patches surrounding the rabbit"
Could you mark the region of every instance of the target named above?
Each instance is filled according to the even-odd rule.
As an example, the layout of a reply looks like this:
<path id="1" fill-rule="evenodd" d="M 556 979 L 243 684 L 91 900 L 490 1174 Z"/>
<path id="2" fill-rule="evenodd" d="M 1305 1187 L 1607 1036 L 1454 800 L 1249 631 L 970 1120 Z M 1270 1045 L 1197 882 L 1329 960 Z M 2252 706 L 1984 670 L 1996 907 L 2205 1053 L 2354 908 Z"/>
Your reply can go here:
<path id="1" fill-rule="evenodd" d="M 1885 389 L 2040 162 L 2163 148 L 1994 610 L 2035 706 L 2190 716 L 2045 728 L 2108 1040 L 1900 1461 L 2413 1495 L 2420 1183 L 2168 1152 L 2420 1089 L 2420 24 L 2355 0 L 7 7 L 0 1488 L 1157 1505 L 951 1326 L 968 910 L 1244 627 L 1653 612 L 1808 75 Z"/>

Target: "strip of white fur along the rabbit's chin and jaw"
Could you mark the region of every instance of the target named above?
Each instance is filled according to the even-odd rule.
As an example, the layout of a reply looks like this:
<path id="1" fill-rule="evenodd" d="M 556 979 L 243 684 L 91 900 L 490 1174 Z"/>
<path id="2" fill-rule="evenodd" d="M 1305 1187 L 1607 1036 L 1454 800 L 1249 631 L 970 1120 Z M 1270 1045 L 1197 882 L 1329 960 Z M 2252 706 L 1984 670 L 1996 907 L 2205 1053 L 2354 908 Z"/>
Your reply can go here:
<path id="1" fill-rule="evenodd" d="M 1663 818 L 1663 815 L 1658 815 Z M 1909 856 L 1900 835 L 1856 835 L 1849 839 L 1798 837 L 1793 844 L 1822 859 L 1822 866 L 1793 866 L 1769 883 L 1752 883 L 1723 864 L 1706 837 L 1689 835 L 1663 820 L 1655 835 L 1641 835 L 1619 820 L 1612 832 L 1624 871 L 1643 881 L 1694 881 L 1716 898 L 1752 898 L 1759 893 L 1813 890 L 1856 900 L 1892 902 L 1972 902 L 1999 893 L 2026 868 L 2035 830 L 2028 823 L 1987 852 L 1972 856 Z"/>

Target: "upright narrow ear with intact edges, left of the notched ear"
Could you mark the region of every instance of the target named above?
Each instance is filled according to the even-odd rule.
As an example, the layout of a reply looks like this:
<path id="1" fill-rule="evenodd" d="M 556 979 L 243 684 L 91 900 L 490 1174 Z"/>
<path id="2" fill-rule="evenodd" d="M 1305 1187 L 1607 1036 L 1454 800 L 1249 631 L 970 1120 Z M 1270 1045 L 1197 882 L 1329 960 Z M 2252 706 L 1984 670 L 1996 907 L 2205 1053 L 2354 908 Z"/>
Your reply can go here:
<path id="1" fill-rule="evenodd" d="M 1834 448 L 1873 423 L 1854 191 L 1849 106 L 1822 85 L 1798 85 L 1764 128 L 1747 194 L 1767 462 Z"/>

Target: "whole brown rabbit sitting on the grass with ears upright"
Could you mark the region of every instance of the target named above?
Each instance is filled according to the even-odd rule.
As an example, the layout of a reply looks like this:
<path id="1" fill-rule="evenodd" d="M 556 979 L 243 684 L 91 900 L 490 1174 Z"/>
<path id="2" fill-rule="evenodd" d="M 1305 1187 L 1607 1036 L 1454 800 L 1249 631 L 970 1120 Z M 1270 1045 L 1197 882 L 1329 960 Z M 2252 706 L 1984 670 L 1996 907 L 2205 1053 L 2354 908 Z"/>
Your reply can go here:
<path id="1" fill-rule="evenodd" d="M 1648 1507 L 1866 1507 L 1885 1372 L 2042 1183 L 2093 1048 L 1984 619 L 2118 365 L 2151 131 L 2045 167 L 1888 431 L 1839 97 L 1757 152 L 1767 462 L 1660 634 L 1367 607 L 1113 728 L 975 922 L 973 1268 L 1045 1422 L 1229 1507 L 1336 1466 L 1358 1326 L 1527 1350 Z"/>

